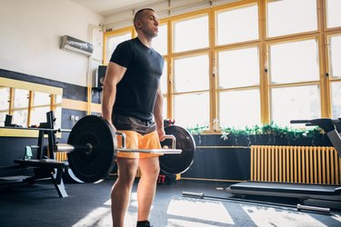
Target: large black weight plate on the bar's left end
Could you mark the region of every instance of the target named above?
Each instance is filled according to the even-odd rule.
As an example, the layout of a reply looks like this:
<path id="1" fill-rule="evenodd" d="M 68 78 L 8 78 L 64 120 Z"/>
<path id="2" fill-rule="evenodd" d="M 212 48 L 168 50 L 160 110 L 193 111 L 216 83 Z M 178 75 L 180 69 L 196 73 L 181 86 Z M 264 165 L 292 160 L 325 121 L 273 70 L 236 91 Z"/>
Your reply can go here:
<path id="1" fill-rule="evenodd" d="M 67 153 L 75 176 L 85 183 L 105 178 L 115 166 L 116 136 L 113 127 L 102 117 L 87 115 L 72 129 L 67 143 L 77 146 L 91 144 L 92 152 L 76 149 Z"/>

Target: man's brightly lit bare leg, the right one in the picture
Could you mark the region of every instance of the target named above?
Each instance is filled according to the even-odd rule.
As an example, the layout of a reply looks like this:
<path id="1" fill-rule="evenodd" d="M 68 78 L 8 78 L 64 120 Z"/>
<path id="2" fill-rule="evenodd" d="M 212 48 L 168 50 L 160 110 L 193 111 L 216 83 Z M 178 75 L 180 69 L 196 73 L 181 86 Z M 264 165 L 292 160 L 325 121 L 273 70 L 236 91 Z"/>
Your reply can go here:
<path id="1" fill-rule="evenodd" d="M 160 167 L 157 156 L 142 158 L 139 162 L 141 178 L 137 186 L 137 221 L 146 221 L 154 201 Z"/>

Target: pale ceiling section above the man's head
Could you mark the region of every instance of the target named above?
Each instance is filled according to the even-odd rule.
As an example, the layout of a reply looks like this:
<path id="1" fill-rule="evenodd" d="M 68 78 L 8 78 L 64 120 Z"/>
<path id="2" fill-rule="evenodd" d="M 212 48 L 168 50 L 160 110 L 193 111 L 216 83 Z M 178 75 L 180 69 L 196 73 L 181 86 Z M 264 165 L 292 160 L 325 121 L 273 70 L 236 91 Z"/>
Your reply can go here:
<path id="1" fill-rule="evenodd" d="M 112 15 L 113 13 L 138 7 L 141 5 L 154 4 L 157 2 L 163 2 L 165 0 L 71 0 L 77 5 L 82 5 L 83 7 L 95 12 L 98 15 Z"/>

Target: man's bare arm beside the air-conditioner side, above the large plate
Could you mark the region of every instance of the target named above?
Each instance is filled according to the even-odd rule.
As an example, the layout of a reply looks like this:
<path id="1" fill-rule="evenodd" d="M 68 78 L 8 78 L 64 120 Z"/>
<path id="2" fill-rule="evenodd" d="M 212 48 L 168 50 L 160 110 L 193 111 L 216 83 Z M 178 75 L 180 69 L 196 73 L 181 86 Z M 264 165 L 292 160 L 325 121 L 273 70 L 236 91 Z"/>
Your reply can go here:
<path id="1" fill-rule="evenodd" d="M 105 73 L 105 82 L 102 93 L 102 116 L 112 123 L 113 106 L 116 98 L 116 85 L 122 80 L 126 68 L 110 62 Z"/>

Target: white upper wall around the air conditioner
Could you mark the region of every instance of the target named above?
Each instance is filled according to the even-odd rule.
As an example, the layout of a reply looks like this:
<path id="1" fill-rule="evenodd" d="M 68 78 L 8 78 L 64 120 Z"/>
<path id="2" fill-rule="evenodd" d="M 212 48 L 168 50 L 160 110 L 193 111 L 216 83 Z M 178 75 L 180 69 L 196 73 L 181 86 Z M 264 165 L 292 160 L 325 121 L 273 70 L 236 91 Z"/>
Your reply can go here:
<path id="1" fill-rule="evenodd" d="M 103 20 L 69 0 L 0 0 L 0 68 L 86 86 L 88 57 L 60 49 L 61 36 L 90 42 Z"/>

